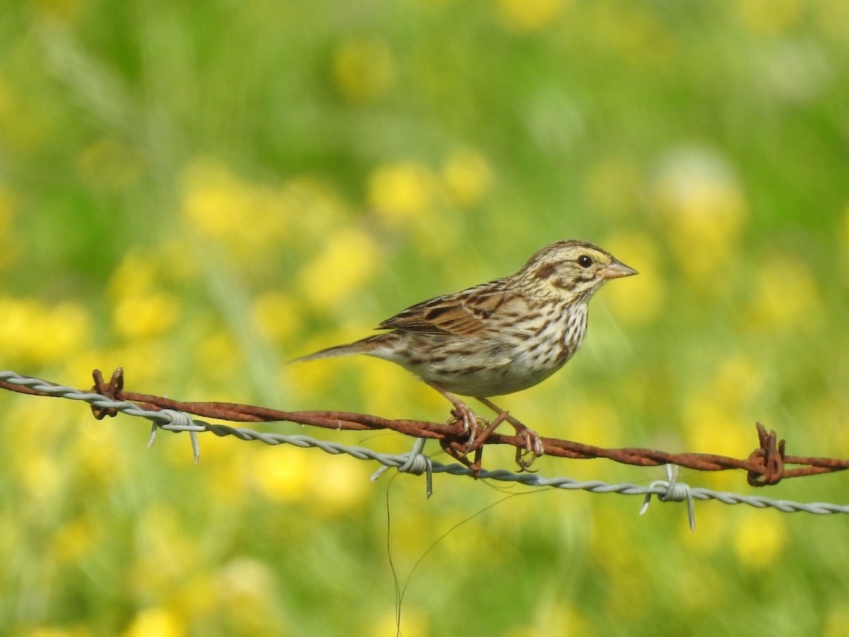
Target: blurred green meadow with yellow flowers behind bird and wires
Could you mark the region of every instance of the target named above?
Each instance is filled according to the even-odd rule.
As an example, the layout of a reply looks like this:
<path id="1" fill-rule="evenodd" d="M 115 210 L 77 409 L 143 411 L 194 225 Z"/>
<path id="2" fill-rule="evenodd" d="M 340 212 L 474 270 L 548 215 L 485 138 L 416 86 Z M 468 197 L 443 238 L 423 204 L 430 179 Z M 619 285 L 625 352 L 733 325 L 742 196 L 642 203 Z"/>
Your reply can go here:
<path id="1" fill-rule="evenodd" d="M 31 0 L 0 20 L 0 356 L 90 386 L 444 420 L 387 363 L 288 366 L 592 240 L 640 271 L 544 435 L 849 455 L 846 0 Z M 395 634 L 448 529 L 520 488 L 161 435 L 0 395 L 0 633 Z M 270 431 L 334 437 L 274 425 Z M 340 441 L 400 452 L 394 434 Z M 436 446 L 428 450 L 436 454 Z M 440 457 L 445 461 L 444 456 Z M 513 468 L 487 449 L 488 468 Z M 661 469 L 543 458 L 543 475 Z M 849 503 L 849 476 L 773 498 Z M 685 472 L 755 493 L 745 475 Z M 386 528 L 390 502 L 391 530 Z M 849 521 L 535 491 L 415 572 L 408 637 L 849 634 Z"/>

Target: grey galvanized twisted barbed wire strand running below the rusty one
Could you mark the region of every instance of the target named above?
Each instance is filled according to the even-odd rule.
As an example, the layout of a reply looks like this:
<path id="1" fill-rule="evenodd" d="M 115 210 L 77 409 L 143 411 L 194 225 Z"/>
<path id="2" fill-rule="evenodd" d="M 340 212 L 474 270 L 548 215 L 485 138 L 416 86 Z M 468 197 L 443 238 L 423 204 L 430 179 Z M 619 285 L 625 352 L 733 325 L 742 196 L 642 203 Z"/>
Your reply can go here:
<path id="1" fill-rule="evenodd" d="M 568 491 L 588 491 L 589 493 L 619 493 L 621 495 L 638 495 L 644 497 L 644 512 L 651 496 L 657 496 L 661 501 L 685 501 L 688 503 L 690 526 L 694 526 L 693 501 L 694 500 L 717 500 L 726 505 L 749 505 L 756 509 L 773 508 L 785 513 L 813 513 L 817 515 L 830 515 L 835 513 L 849 514 L 849 505 L 835 505 L 828 502 L 793 502 L 790 500 L 764 498 L 756 495 L 742 495 L 740 493 L 728 493 L 713 491 L 708 488 L 689 487 L 683 482 L 678 482 L 675 472 L 667 469 L 666 480 L 655 480 L 648 486 L 633 484 L 630 482 L 603 482 L 601 480 L 579 481 L 570 477 L 545 477 L 537 473 L 514 473 L 504 469 L 494 471 L 481 470 L 476 472 L 464 465 L 443 465 L 430 459 L 423 454 L 424 443 L 417 441 L 413 450 L 405 454 L 381 454 L 373 449 L 357 447 L 342 443 L 334 443 L 318 440 L 304 435 L 287 435 L 279 433 L 265 433 L 242 427 L 232 427 L 205 422 L 205 420 L 194 420 L 189 414 L 175 411 L 173 409 L 142 409 L 135 403 L 127 401 L 115 401 L 103 397 L 100 394 L 81 392 L 74 387 L 53 385 L 41 379 L 18 375 L 10 371 L 0 371 L 0 381 L 14 385 L 27 386 L 31 389 L 43 392 L 51 397 L 67 398 L 69 400 L 83 401 L 93 407 L 103 409 L 116 409 L 123 414 L 137 416 L 150 420 L 154 424 L 154 432 L 157 428 L 165 431 L 188 431 L 192 437 L 192 447 L 195 459 L 198 458 L 199 448 L 197 445 L 197 433 L 209 431 L 219 436 L 233 436 L 239 440 L 258 440 L 269 445 L 290 444 L 298 448 L 318 448 L 327 454 L 346 454 L 352 458 L 362 460 L 374 460 L 385 467 L 394 467 L 399 471 L 415 474 L 425 473 L 428 476 L 428 489 L 430 493 L 430 474 L 447 473 L 452 476 L 476 476 L 487 480 L 499 482 L 514 482 L 526 487 L 557 488 Z M 151 438 L 152 442 L 152 438 Z M 382 471 L 375 471 L 373 479 L 380 476 Z"/>

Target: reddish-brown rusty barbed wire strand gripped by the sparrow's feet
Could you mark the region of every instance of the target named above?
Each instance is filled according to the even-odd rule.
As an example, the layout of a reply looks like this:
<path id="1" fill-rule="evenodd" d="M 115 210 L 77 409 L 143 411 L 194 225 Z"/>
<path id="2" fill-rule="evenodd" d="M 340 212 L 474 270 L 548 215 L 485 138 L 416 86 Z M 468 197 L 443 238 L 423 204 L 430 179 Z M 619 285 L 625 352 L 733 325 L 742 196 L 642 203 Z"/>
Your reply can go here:
<path id="1" fill-rule="evenodd" d="M 20 392 L 35 396 L 53 396 L 47 390 L 15 382 L 19 379 L 32 379 L 31 376 L 16 375 L 14 372 L 0 373 L 0 388 L 11 392 Z M 174 410 L 194 414 L 203 418 L 228 420 L 238 423 L 256 422 L 292 422 L 300 425 L 321 427 L 324 429 L 364 431 L 391 430 L 416 438 L 432 438 L 439 441 L 455 459 L 464 462 L 471 469 L 481 471 L 481 452 L 485 445 L 506 444 L 517 449 L 525 449 L 526 441 L 520 437 L 489 433 L 479 441 L 478 448 L 469 449 L 469 434 L 464 432 L 460 420 L 447 423 L 435 423 L 424 420 L 390 420 L 371 414 L 357 414 L 341 411 L 282 411 L 257 405 L 222 402 L 183 402 L 171 398 L 129 392 L 124 386 L 122 368 L 115 369 L 110 381 L 104 381 L 100 370 L 93 371 L 94 385 L 90 390 L 79 390 L 88 394 L 97 394 L 111 401 L 128 401 L 149 410 Z M 40 379 L 35 379 L 40 381 Z M 56 387 L 55 383 L 41 381 L 45 387 Z M 91 405 L 93 415 L 98 420 L 106 416 L 115 416 L 114 407 Z M 758 446 L 745 459 L 731 458 L 720 454 L 683 453 L 672 454 L 650 448 L 602 448 L 585 443 L 576 443 L 559 438 L 541 437 L 546 455 L 570 459 L 610 459 L 626 465 L 659 466 L 678 465 L 695 471 L 727 471 L 739 469 L 746 471 L 747 481 L 753 487 L 778 484 L 790 477 L 811 476 L 819 473 L 844 471 L 849 469 L 849 459 L 822 458 L 812 456 L 792 456 L 785 453 L 786 443 L 779 440 L 774 431 L 768 431 L 760 423 L 756 424 Z M 475 461 L 465 459 L 475 452 Z M 788 468 L 787 465 L 798 465 Z"/>

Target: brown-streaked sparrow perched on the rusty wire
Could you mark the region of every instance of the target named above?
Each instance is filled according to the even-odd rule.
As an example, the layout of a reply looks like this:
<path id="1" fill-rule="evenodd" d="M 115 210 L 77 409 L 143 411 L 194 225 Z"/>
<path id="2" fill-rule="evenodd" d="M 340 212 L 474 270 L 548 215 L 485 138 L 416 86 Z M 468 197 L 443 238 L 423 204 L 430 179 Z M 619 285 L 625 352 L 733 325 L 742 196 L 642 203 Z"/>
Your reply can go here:
<path id="1" fill-rule="evenodd" d="M 436 296 L 387 318 L 377 329 L 389 332 L 295 360 L 384 358 L 447 397 L 469 432 L 469 444 L 475 414 L 454 394 L 475 397 L 498 414 L 498 422 L 508 420 L 527 450 L 540 455 L 537 434 L 487 397 L 519 392 L 554 374 L 580 347 L 596 290 L 607 279 L 636 273 L 598 245 L 557 241 L 509 277 Z"/>

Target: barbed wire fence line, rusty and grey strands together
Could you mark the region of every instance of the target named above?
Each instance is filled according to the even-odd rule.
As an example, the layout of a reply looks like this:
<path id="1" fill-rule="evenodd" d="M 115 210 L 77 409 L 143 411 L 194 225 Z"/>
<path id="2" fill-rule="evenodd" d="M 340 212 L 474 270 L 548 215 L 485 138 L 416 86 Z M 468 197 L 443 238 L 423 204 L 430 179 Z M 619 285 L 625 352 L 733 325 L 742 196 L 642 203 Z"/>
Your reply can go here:
<path id="1" fill-rule="evenodd" d="M 386 420 L 368 414 L 351 414 L 348 412 L 310 411 L 282 412 L 274 409 L 257 407 L 256 405 L 239 405 L 236 403 L 181 403 L 170 398 L 150 396 L 125 392 L 122 369 L 116 369 L 109 384 L 104 383 L 103 376 L 98 370 L 94 371 L 95 386 L 92 390 L 79 390 L 70 386 L 62 386 L 42 379 L 17 374 L 13 371 L 0 371 L 0 388 L 12 392 L 30 394 L 42 397 L 59 397 L 87 403 L 98 420 L 105 416 L 115 416 L 118 413 L 140 417 L 152 423 L 150 443 L 153 443 L 155 432 L 180 432 L 189 434 L 194 459 L 200 458 L 200 446 L 197 434 L 209 432 L 218 437 L 233 436 L 239 440 L 256 440 L 269 445 L 290 444 L 298 448 L 318 448 L 327 454 L 346 454 L 353 458 L 374 460 L 380 469 L 374 472 L 372 479 L 376 480 L 389 468 L 398 471 L 426 476 L 426 493 L 432 493 L 432 475 L 447 473 L 453 476 L 473 476 L 479 479 L 499 482 L 514 482 L 526 487 L 557 488 L 564 490 L 581 490 L 590 493 L 619 493 L 621 495 L 638 495 L 644 497 L 640 513 L 648 508 L 652 496 L 657 496 L 663 502 L 686 502 L 689 512 L 689 524 L 695 527 L 694 500 L 718 500 L 726 505 L 749 505 L 756 509 L 773 508 L 785 513 L 805 512 L 818 515 L 835 513 L 849 514 L 849 505 L 835 505 L 826 502 L 801 503 L 783 499 L 770 499 L 756 495 L 742 495 L 713 491 L 708 488 L 689 487 L 678 481 L 678 466 L 699 469 L 701 471 L 723 471 L 728 469 L 745 469 L 749 471 L 749 482 L 753 486 L 775 484 L 781 477 L 796 477 L 812 475 L 824 471 L 841 471 L 849 468 L 849 460 L 834 458 L 802 458 L 784 454 L 784 440 L 776 442 L 774 431 L 769 433 L 758 425 L 761 448 L 757 448 L 748 459 L 732 459 L 718 454 L 668 454 L 654 449 L 623 448 L 604 449 L 581 443 L 571 443 L 554 438 L 543 438 L 543 446 L 548 454 L 549 449 L 561 450 L 563 457 L 579 458 L 608 458 L 632 465 L 665 465 L 666 480 L 655 480 L 648 486 L 630 482 L 603 482 L 600 480 L 579 481 L 565 476 L 546 477 L 527 471 L 514 472 L 504 469 L 485 470 L 480 465 L 441 464 L 424 454 L 424 443 L 428 438 L 439 439 L 443 448 L 457 443 L 458 440 L 468 440 L 459 422 L 439 425 L 418 420 Z M 181 409 L 175 409 L 181 408 Z M 191 414 L 217 414 L 214 417 L 222 420 L 239 422 L 269 422 L 288 420 L 302 425 L 314 425 L 324 428 L 347 429 L 354 431 L 372 429 L 391 429 L 416 437 L 411 451 L 405 454 L 382 454 L 370 448 L 346 445 L 331 441 L 319 440 L 304 435 L 288 435 L 254 431 L 247 428 L 233 427 L 217 423 L 195 420 Z M 225 414 L 225 415 L 221 415 Z M 422 435 L 418 435 L 422 434 Z M 456 439 L 456 440 L 455 440 Z M 485 444 L 511 444 L 522 448 L 525 444 L 519 437 L 493 434 Z M 580 449 L 581 452 L 576 452 Z M 578 455 L 582 453 L 582 455 Z M 571 455 L 575 454 L 575 455 Z M 687 464 L 689 463 L 689 464 Z M 786 470 L 784 464 L 793 463 L 806 465 L 801 470 Z M 802 472 L 805 470 L 814 470 Z M 753 478 L 752 473 L 756 474 Z M 780 474 L 780 475 L 779 475 Z M 778 476 L 778 477 L 776 477 Z"/>

